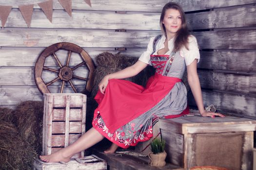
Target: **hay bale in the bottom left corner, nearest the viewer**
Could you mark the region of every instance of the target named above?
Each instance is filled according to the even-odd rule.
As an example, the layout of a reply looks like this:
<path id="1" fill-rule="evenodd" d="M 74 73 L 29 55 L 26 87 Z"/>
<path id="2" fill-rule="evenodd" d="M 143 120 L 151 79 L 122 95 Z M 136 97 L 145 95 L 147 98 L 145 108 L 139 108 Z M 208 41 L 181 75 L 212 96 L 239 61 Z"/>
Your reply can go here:
<path id="1" fill-rule="evenodd" d="M 32 170 L 37 154 L 14 124 L 0 120 L 0 170 Z"/>

